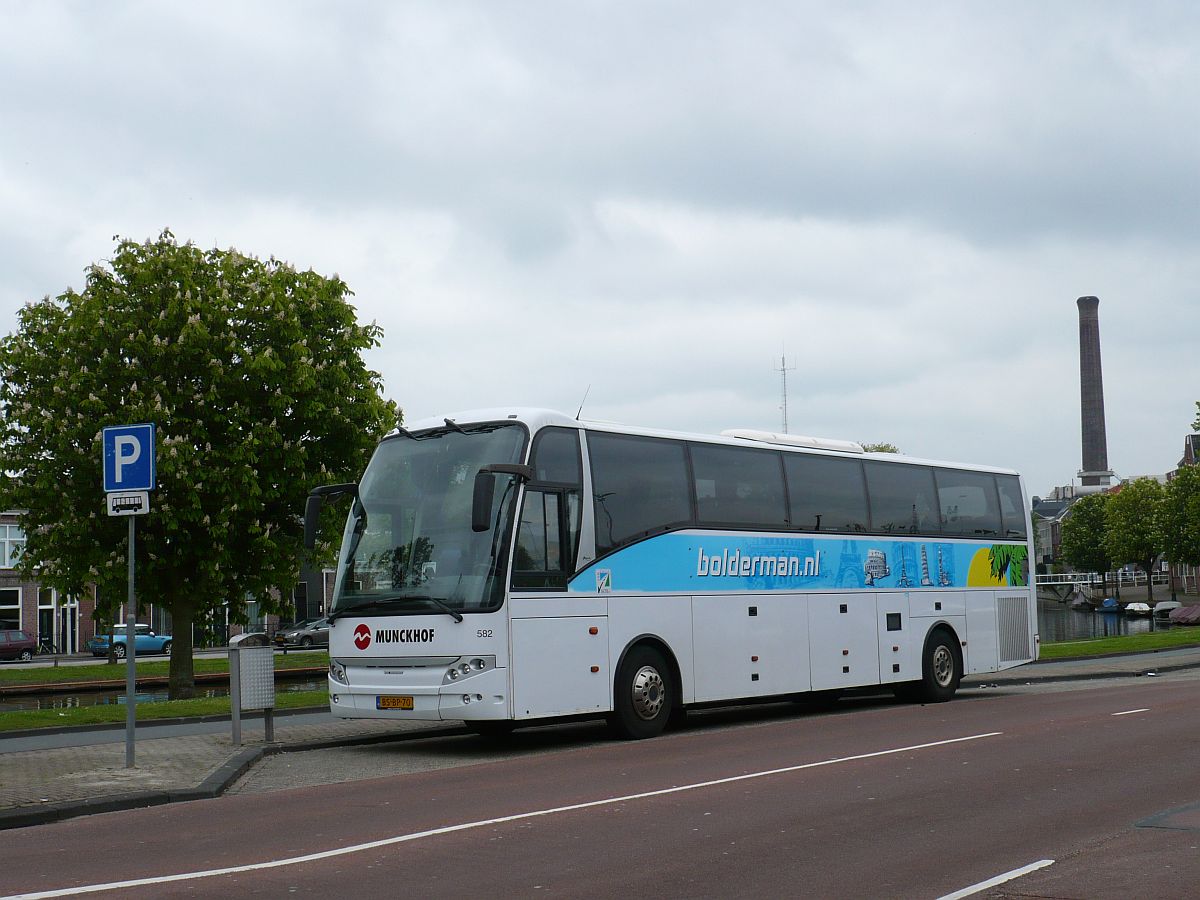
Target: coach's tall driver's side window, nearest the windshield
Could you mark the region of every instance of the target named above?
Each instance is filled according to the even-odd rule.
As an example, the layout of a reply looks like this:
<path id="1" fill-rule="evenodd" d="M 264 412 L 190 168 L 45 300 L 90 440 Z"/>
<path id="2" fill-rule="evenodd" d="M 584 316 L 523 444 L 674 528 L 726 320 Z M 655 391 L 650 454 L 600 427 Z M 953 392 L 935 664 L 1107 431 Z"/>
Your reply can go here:
<path id="1" fill-rule="evenodd" d="M 534 439 L 534 481 L 524 492 L 517 526 L 514 588 L 563 588 L 575 571 L 583 478 L 580 437 L 544 428 Z"/>

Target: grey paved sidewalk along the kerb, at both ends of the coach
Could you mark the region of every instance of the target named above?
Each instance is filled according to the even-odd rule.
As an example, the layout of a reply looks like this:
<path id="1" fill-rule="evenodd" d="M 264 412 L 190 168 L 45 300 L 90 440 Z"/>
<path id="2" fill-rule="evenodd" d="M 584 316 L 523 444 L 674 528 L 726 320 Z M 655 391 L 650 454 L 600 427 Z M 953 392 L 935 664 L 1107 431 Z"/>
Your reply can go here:
<path id="1" fill-rule="evenodd" d="M 1200 667 L 1200 648 L 1033 662 L 1006 672 L 970 676 L 962 686 L 1120 678 L 1196 667 Z M 122 737 L 112 743 L 0 754 L 0 829 L 217 797 L 266 754 L 466 733 L 458 722 L 314 724 L 306 721 L 306 716 L 277 714 L 272 744 L 264 740 L 262 721 L 250 719 L 242 722 L 244 745 L 236 748 L 229 730 L 155 737 L 156 728 L 166 727 L 169 726 L 138 728 L 132 769 L 125 768 L 124 727 L 116 730 Z"/>

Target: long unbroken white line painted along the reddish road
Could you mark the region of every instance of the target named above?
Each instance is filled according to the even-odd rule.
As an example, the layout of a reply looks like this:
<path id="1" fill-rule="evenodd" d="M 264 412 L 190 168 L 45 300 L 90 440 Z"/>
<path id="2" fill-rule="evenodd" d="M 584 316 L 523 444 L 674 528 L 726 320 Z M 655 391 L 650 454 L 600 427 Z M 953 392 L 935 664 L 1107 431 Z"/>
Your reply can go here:
<path id="1" fill-rule="evenodd" d="M 314 863 L 320 859 L 331 859 L 332 857 L 347 856 L 349 853 L 361 853 L 367 850 L 378 850 L 379 847 L 389 847 L 394 844 L 406 844 L 408 841 L 420 840 L 422 838 L 436 838 L 442 834 L 452 834 L 455 832 L 466 832 L 470 828 L 486 828 L 487 826 L 504 824 L 506 822 L 520 822 L 524 818 L 538 818 L 540 816 L 552 816 L 558 812 L 575 812 L 581 809 L 594 809 L 595 806 L 611 806 L 617 803 L 629 803 L 630 800 L 644 800 L 649 797 L 665 797 L 672 793 L 682 793 L 684 791 L 698 791 L 702 787 L 715 787 L 718 785 L 731 785 L 737 781 L 749 781 L 756 778 L 767 778 L 768 775 L 782 775 L 790 772 L 802 772 L 803 769 L 816 769 L 822 766 L 836 766 L 842 762 L 857 762 L 859 760 L 872 760 L 878 756 L 892 756 L 894 754 L 907 754 L 913 750 L 928 750 L 935 746 L 947 746 L 948 744 L 961 744 L 967 740 L 980 740 L 983 738 L 995 738 L 1003 734 L 1001 731 L 989 731 L 984 734 L 971 734 L 965 738 L 949 738 L 948 740 L 931 740 L 928 744 L 913 744 L 912 746 L 898 746 L 892 750 L 876 750 L 871 754 L 858 754 L 856 756 L 841 756 L 835 760 L 822 760 L 821 762 L 805 762 L 799 766 L 787 766 L 781 769 L 767 769 L 764 772 L 750 772 L 744 775 L 732 775 L 730 778 L 719 778 L 712 781 L 697 781 L 691 785 L 678 785 L 676 787 L 664 787 L 659 791 L 644 791 L 642 793 L 625 794 L 624 797 L 607 797 L 602 800 L 588 800 L 587 803 L 575 803 L 570 806 L 556 806 L 553 809 L 532 810 L 529 812 L 517 812 L 511 816 L 499 816 L 498 818 L 485 818 L 478 822 L 462 822 L 461 824 L 444 826 L 442 828 L 431 828 L 426 832 L 413 832 L 410 834 L 400 834 L 394 838 L 384 838 L 377 841 L 368 841 L 366 844 L 353 844 L 347 847 L 336 847 L 334 850 L 324 850 L 318 853 L 307 853 L 301 857 L 289 857 L 287 859 L 270 859 L 265 863 L 247 863 L 246 865 L 230 865 L 224 869 L 205 869 L 194 872 L 180 872 L 178 875 L 161 875 L 152 876 L 148 878 L 132 878 L 130 881 L 113 881 L 103 884 L 82 884 L 73 888 L 61 888 L 59 890 L 38 890 L 29 894 L 10 894 L 8 896 L 0 898 L 0 900 L 41 900 L 41 898 L 53 898 L 53 896 L 74 896 L 76 894 L 95 894 L 101 890 L 118 890 L 120 888 L 139 888 L 148 884 L 168 884 L 176 881 L 192 881 L 194 878 L 211 878 L 217 875 L 238 875 L 240 872 L 252 872 L 262 869 L 280 869 L 286 865 L 300 865 L 302 863 Z"/>

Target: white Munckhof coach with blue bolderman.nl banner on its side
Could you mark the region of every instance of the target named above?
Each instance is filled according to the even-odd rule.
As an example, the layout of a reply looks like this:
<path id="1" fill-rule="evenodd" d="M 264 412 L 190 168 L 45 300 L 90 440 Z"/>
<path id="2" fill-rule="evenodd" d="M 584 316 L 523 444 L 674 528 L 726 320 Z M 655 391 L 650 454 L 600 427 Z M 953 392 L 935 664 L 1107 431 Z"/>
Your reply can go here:
<path id="1" fill-rule="evenodd" d="M 949 700 L 1037 658 L 1015 472 L 767 432 L 490 409 L 385 438 L 352 497 L 330 709 L 481 733 L 884 685 Z"/>

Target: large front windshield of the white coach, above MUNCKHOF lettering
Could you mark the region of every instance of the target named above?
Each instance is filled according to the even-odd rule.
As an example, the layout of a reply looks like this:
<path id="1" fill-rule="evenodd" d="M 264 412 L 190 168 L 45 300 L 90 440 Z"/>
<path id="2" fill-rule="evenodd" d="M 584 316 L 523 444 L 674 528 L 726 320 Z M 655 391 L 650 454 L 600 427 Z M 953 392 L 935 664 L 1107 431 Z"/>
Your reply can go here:
<path id="1" fill-rule="evenodd" d="M 472 530 L 475 473 L 515 463 L 517 422 L 401 434 L 379 444 L 346 522 L 331 614 L 488 612 L 504 601 L 517 482 L 497 478 L 492 526 Z"/>

